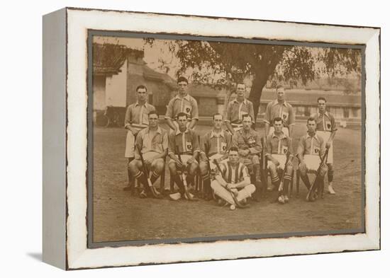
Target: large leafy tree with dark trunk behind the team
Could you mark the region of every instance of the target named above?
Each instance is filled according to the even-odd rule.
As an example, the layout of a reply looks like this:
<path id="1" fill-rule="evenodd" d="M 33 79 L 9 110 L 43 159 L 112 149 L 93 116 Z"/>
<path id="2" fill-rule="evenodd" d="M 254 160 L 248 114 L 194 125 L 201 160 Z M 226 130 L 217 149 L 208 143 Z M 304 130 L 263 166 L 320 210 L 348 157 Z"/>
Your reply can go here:
<path id="1" fill-rule="evenodd" d="M 151 44 L 152 40 L 149 41 Z M 177 75 L 189 73 L 196 83 L 237 83 L 250 79 L 255 112 L 270 79 L 306 84 L 319 76 L 360 74 L 361 52 L 350 48 L 262 45 L 253 43 L 165 41 L 179 61 Z M 167 67 L 167 65 L 164 65 Z"/>

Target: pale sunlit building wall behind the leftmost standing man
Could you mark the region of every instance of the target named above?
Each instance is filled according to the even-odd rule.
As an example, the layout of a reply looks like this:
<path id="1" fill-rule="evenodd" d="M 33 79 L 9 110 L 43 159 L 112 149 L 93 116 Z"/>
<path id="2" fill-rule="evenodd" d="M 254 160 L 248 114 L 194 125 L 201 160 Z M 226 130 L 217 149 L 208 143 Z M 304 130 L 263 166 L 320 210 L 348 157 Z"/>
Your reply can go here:
<path id="1" fill-rule="evenodd" d="M 127 62 L 121 66 L 121 72 L 106 77 L 106 105 L 126 107 Z"/>

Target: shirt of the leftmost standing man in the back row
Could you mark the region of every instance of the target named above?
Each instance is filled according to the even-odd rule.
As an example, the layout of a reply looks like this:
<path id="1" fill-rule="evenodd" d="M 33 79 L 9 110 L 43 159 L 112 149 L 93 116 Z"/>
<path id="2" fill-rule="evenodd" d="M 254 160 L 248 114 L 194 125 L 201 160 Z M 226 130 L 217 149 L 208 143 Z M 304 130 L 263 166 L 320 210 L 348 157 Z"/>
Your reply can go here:
<path id="1" fill-rule="evenodd" d="M 125 127 L 130 125 L 137 128 L 145 128 L 149 125 L 149 112 L 156 110 L 156 108 L 145 103 L 140 105 L 138 102 L 128 105 L 125 115 Z"/>

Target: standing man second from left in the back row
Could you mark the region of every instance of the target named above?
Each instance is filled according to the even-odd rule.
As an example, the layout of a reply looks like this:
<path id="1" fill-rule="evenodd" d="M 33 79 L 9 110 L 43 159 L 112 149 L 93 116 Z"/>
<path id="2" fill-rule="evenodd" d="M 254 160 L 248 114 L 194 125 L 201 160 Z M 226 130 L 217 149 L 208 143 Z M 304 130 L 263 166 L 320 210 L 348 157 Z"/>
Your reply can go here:
<path id="1" fill-rule="evenodd" d="M 177 79 L 177 85 L 179 86 L 179 93 L 169 101 L 165 120 L 167 120 L 169 127 L 177 132 L 179 129 L 177 115 L 182 112 L 187 116 L 187 127 L 194 129 L 196 122 L 199 120 L 198 103 L 196 103 L 195 98 L 187 93 L 188 80 L 185 77 L 180 76 Z"/>

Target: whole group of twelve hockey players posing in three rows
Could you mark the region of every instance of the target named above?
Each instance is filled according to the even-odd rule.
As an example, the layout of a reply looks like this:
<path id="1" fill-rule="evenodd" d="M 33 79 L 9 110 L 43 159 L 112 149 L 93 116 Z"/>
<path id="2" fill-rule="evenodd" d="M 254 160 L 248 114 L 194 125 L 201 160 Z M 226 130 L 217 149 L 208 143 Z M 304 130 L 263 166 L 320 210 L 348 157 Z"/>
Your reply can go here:
<path id="1" fill-rule="evenodd" d="M 267 169 L 272 183 L 267 188 L 273 190 L 281 183 L 288 188 L 292 175 L 294 158 L 291 137 L 295 124 L 292 106 L 284 100 L 284 88 L 277 86 L 277 98 L 268 103 L 264 125 L 266 139 L 252 129 L 255 122 L 253 105 L 245 98 L 245 85 L 239 83 L 236 98 L 228 103 L 225 115 L 213 115 L 213 127 L 199 139 L 194 127 L 199 120 L 196 100 L 188 94 L 188 81 L 184 77 L 177 80 L 179 93 L 169 101 L 165 120 L 171 132 L 162 129 L 159 115 L 153 105 L 147 103 L 147 88 L 136 88 L 136 103 L 126 110 L 125 156 L 128 158 L 128 179 L 133 191 L 133 178 L 144 186 L 140 197 L 150 195 L 148 183 L 153 184 L 165 170 L 165 156 L 169 156 L 169 171 L 179 192 L 169 195 L 171 199 L 196 199 L 186 190 L 186 185 L 193 183 L 194 175 L 200 173 L 204 183 L 206 199 L 217 195 L 224 202 L 233 204 L 233 197 L 245 202 L 249 197 L 260 198 L 260 154 L 267 157 Z M 303 183 L 308 187 L 307 173 L 317 170 L 325 149 L 329 149 L 327 161 L 323 163 L 318 183 L 328 173 L 328 192 L 333 190 L 333 139 L 336 127 L 333 115 L 325 109 L 325 98 L 318 98 L 318 113 L 307 120 L 308 132 L 299 139 L 296 156 Z M 222 129 L 225 123 L 227 130 Z M 136 147 L 135 147 L 136 146 Z M 286 156 L 289 154 L 289 156 Z M 143 171 L 144 163 L 150 169 L 150 179 Z M 219 168 L 217 168 L 217 165 Z M 286 170 L 284 170 L 286 168 Z M 186 178 L 182 173 L 186 172 Z M 280 173 L 284 175 L 280 175 Z M 213 180 L 213 181 L 211 181 Z M 167 189 L 167 191 L 169 191 Z M 279 196 L 279 202 L 288 202 L 288 196 Z"/>

